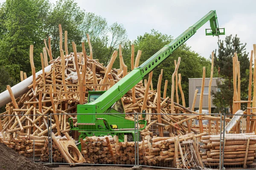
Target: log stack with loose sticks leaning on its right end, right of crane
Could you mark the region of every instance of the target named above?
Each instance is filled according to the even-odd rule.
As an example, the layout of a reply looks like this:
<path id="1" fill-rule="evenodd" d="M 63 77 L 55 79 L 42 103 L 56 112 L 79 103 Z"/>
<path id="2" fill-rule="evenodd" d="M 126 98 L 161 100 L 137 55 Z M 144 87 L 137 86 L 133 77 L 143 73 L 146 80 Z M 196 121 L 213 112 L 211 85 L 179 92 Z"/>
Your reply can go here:
<path id="1" fill-rule="evenodd" d="M 204 167 L 201 160 L 197 138 L 205 135 L 156 137 L 150 139 L 148 152 L 143 156 L 150 166 L 176 167 L 190 169 L 190 167 Z M 192 158 L 194 159 L 193 161 Z M 193 162 L 193 163 L 192 163 Z"/>

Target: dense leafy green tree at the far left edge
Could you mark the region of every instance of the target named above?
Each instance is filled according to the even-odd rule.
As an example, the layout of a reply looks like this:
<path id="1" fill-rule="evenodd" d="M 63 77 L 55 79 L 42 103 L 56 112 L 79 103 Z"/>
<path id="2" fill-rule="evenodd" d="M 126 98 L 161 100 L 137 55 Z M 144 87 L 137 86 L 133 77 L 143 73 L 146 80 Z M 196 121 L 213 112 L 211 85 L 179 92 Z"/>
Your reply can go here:
<path id="1" fill-rule="evenodd" d="M 31 73 L 29 45 L 34 45 L 34 62 L 41 65 L 39 49 L 43 47 L 43 20 L 47 0 L 6 0 L 0 12 L 0 65 L 5 66 L 15 80 L 20 71 Z"/>

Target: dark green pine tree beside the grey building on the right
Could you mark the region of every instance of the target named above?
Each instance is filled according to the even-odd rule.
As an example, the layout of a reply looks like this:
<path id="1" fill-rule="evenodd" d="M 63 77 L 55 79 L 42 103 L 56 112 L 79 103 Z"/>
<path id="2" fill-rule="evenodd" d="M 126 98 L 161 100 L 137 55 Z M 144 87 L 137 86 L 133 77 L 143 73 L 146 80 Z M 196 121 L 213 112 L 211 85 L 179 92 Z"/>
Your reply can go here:
<path id="1" fill-rule="evenodd" d="M 218 56 L 215 57 L 214 65 L 220 68 L 219 75 L 224 80 L 218 82 L 218 89 L 214 95 L 213 104 L 217 107 L 218 111 L 223 111 L 225 107 L 230 107 L 231 113 L 233 112 L 233 59 L 234 53 L 237 53 L 238 60 L 240 61 L 240 74 L 241 74 L 241 100 L 247 99 L 248 94 L 248 69 L 250 61 L 248 53 L 246 52 L 246 43 L 240 42 L 240 38 L 229 35 L 224 41 L 218 43 Z M 224 101 L 223 101 L 224 99 Z M 220 106 L 220 108 L 218 108 Z M 243 106 L 243 105 L 241 105 Z"/>

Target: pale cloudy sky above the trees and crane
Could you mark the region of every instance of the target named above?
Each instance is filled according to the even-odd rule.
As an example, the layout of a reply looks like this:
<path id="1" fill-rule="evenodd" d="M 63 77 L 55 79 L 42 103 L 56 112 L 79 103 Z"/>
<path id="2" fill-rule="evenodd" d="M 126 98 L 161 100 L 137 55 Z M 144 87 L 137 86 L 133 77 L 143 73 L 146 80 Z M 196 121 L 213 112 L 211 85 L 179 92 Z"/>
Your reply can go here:
<path id="1" fill-rule="evenodd" d="M 2 3 L 5 0 L 0 0 Z M 54 3 L 56 0 L 49 0 Z M 247 52 L 256 43 L 256 1 L 255 0 L 75 0 L 86 12 L 93 12 L 106 18 L 108 24 L 122 23 L 128 38 L 137 36 L 151 29 L 176 38 L 189 26 L 192 26 L 210 10 L 216 10 L 220 28 L 225 28 L 226 35 L 237 34 L 242 43 L 247 43 Z M 209 58 L 218 48 L 217 37 L 205 36 L 202 26 L 188 41 L 187 45 L 201 56 Z M 224 40 L 225 36 L 220 36 Z M 182 57 L 182 56 L 181 56 Z"/>

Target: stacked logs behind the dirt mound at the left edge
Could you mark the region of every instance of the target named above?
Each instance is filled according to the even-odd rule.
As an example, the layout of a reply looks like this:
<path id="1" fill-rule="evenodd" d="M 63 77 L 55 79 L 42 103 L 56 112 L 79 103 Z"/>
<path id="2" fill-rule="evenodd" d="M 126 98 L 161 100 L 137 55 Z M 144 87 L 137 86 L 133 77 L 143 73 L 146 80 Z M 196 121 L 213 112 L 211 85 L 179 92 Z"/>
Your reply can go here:
<path id="1" fill-rule="evenodd" d="M 40 157 L 41 150 L 45 148 L 48 143 L 48 137 L 44 136 L 38 138 L 35 136 L 22 136 L 22 134 L 20 134 L 16 138 L 9 140 L 0 139 L 0 142 L 27 158 Z"/>

